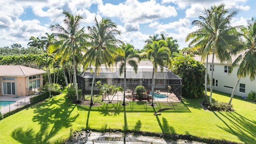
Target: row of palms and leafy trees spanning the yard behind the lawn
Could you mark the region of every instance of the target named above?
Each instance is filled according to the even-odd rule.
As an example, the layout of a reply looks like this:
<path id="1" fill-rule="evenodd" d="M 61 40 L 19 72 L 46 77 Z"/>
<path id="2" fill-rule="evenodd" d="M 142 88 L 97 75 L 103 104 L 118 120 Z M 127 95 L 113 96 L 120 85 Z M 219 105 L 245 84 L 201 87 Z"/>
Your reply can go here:
<path id="1" fill-rule="evenodd" d="M 84 70 L 90 69 L 94 73 L 90 94 L 91 105 L 93 105 L 95 76 L 99 74 L 100 66 L 111 69 L 117 62 L 121 62 L 119 66 L 120 75 L 124 73 L 124 91 L 126 90 L 126 64 L 128 63 L 137 72 L 138 62 L 142 59 L 148 59 L 153 63 L 152 94 L 154 91 L 154 73 L 157 72 L 158 66 L 161 70 L 168 67 L 175 74 L 182 77 L 183 83 L 185 82 L 186 88 L 183 88 L 185 91 L 182 90 L 182 93 L 186 93 L 188 96 L 200 97 L 203 95 L 202 86 L 204 85 L 205 102 L 207 102 L 207 82 L 210 82 L 210 104 L 212 102 L 211 83 L 213 73 L 208 81 L 209 54 L 213 56 L 212 65 L 214 56 L 221 62 L 231 62 L 232 55 L 240 54 L 231 66 L 232 71 L 234 66 L 240 62 L 237 73 L 238 83 L 240 78 L 246 75 L 251 80 L 255 78 L 256 21 L 252 18 L 248 21 L 248 26 L 232 27 L 230 22 L 237 12 L 228 13 L 223 4 L 205 10 L 204 16 L 199 16 L 199 20 L 192 22 L 192 25 L 198 26 L 199 29 L 188 34 L 186 42 L 189 42 L 189 48 L 183 48 L 182 50 L 178 50 L 177 40 L 164 36 L 164 34 L 150 36 L 145 40 L 144 48 L 138 50 L 131 44 L 125 44 L 116 39 L 116 36 L 120 35 L 121 32 L 110 18 L 105 17 L 100 21 L 95 18 L 94 25 L 88 26 L 88 33 L 85 33 L 86 28 L 80 27 L 83 20 L 80 15 L 72 15 L 69 12 L 63 12 L 63 14 L 65 15 L 63 25 L 53 24 L 51 26 L 53 33 L 46 33 L 46 36 L 41 39 L 31 37 L 28 46 L 38 48 L 46 53 L 41 62 L 44 63 L 44 67 L 47 72 L 49 71 L 49 74 L 50 70 L 48 68 L 50 67 L 63 69 L 66 85 L 68 86 L 69 80 L 76 89 L 77 101 L 79 101 L 79 97 L 76 74 L 79 66 L 83 66 Z M 200 54 L 203 60 L 206 59 L 206 67 L 191 58 L 194 54 Z M 139 61 L 135 61 L 134 58 L 138 58 Z M 188 70 L 192 71 L 189 77 L 192 76 L 194 79 L 189 79 L 188 76 L 184 75 L 184 73 L 188 74 Z M 68 76 L 66 76 L 67 73 Z M 52 81 L 49 75 L 48 81 Z M 53 81 L 55 82 L 55 80 Z M 191 87 L 193 84 L 194 86 L 198 85 L 198 87 Z M 191 89 L 192 92 L 190 92 Z M 230 104 L 234 90 L 230 98 Z M 123 105 L 125 105 L 125 101 L 123 101 Z"/>

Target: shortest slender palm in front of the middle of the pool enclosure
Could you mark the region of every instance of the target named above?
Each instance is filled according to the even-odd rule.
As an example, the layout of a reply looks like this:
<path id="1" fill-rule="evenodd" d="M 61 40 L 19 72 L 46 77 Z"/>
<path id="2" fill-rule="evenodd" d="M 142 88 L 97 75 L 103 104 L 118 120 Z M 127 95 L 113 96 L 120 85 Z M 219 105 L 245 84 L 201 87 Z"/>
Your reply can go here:
<path id="1" fill-rule="evenodd" d="M 125 106 L 125 90 L 126 90 L 126 63 L 132 66 L 133 70 L 137 74 L 138 63 L 134 58 L 138 58 L 138 54 L 136 54 L 134 47 L 131 44 L 123 44 L 121 46 L 122 54 L 116 57 L 116 62 L 121 62 L 119 66 L 119 75 L 121 76 L 124 73 L 124 101 L 123 106 Z"/>

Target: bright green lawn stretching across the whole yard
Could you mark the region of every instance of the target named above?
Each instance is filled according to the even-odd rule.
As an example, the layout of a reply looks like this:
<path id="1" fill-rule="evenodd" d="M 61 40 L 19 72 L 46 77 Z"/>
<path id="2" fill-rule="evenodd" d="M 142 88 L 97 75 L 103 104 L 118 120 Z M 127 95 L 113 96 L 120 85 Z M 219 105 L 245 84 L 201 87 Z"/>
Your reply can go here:
<path id="1" fill-rule="evenodd" d="M 214 92 L 212 98 L 228 102 L 229 96 Z M 1 120 L 0 143 L 61 143 L 83 128 L 190 134 L 246 144 L 256 141 L 256 104 L 235 96 L 234 112 L 211 112 L 200 106 L 203 100 L 184 98 L 182 103 L 158 104 L 154 108 L 146 102 L 132 101 L 125 107 L 122 103 L 69 106 L 64 92 Z M 154 116 L 156 110 L 166 107 L 172 109 Z"/>

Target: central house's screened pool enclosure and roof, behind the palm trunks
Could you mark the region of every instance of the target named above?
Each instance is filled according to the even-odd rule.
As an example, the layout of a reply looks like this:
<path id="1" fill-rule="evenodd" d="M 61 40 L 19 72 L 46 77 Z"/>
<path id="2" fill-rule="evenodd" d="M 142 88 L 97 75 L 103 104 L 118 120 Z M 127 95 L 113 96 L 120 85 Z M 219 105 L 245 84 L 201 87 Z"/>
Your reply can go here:
<path id="1" fill-rule="evenodd" d="M 118 71 L 118 66 L 113 67 L 112 69 L 106 68 L 102 66 L 100 68 L 100 72 L 98 76 L 95 77 L 95 82 L 101 81 L 102 84 L 111 84 L 116 86 L 121 86 L 124 88 L 124 73 L 120 76 Z M 83 95 L 90 94 L 92 88 L 92 79 L 94 75 L 95 68 L 92 68 L 93 72 L 90 72 L 87 69 L 84 72 L 81 72 L 77 77 L 78 89 L 82 90 Z M 173 97 L 178 101 L 181 101 L 181 92 L 182 92 L 182 79 L 175 74 L 173 74 L 167 68 L 164 68 L 163 72 L 161 72 L 160 68 L 158 68 L 155 73 L 155 87 L 154 91 L 156 95 L 166 95 L 166 97 Z M 142 60 L 138 63 L 138 71 L 134 72 L 133 68 L 126 65 L 126 98 L 132 98 L 136 96 L 136 86 L 142 85 L 145 88 L 144 96 L 147 100 L 150 99 L 151 95 L 151 86 L 152 86 L 152 62 L 148 60 Z M 99 89 L 94 85 L 94 94 L 98 94 Z M 118 92 L 114 98 L 114 100 L 122 101 L 123 92 Z M 155 95 L 154 95 L 155 96 Z M 154 98 L 155 100 L 160 100 L 160 97 Z M 161 98 L 161 101 L 168 101 L 168 99 Z"/>

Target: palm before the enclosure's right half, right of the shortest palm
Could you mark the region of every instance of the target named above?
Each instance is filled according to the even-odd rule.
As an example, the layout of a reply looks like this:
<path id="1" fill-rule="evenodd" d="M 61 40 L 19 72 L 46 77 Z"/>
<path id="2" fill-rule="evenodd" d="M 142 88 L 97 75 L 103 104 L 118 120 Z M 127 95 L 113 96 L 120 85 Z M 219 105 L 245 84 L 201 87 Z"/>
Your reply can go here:
<path id="1" fill-rule="evenodd" d="M 164 66 L 167 62 L 170 61 L 170 49 L 166 47 L 167 44 L 164 40 L 154 41 L 152 44 L 147 44 L 148 51 L 146 52 L 146 56 L 148 60 L 152 61 L 153 70 L 152 70 L 152 85 L 151 85 L 151 94 L 152 94 L 152 104 L 154 98 L 154 86 L 155 86 L 155 79 L 154 74 L 158 70 L 158 66 L 160 66 L 161 72 L 164 70 Z"/>

